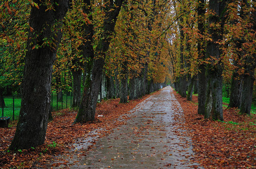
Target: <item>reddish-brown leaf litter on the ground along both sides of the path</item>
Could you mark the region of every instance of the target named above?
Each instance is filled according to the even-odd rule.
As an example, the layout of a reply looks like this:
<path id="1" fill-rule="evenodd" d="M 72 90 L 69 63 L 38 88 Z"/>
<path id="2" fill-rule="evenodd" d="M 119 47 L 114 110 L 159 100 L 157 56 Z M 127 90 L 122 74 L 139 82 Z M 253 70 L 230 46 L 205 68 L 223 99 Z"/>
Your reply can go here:
<path id="1" fill-rule="evenodd" d="M 153 95 L 158 92 L 153 93 Z M 178 115 L 176 125 L 185 129 L 184 135 L 189 135 L 193 140 L 195 157 L 194 162 L 200 163 L 204 168 L 254 168 L 256 166 L 256 140 L 255 140 L 255 114 L 250 117 L 238 114 L 237 109 L 224 108 L 225 122 L 204 119 L 197 114 L 197 96 L 193 101 L 187 101 L 175 91 L 185 119 Z M 152 95 L 152 94 L 151 94 Z M 130 110 L 137 104 L 146 100 L 150 95 L 142 99 L 129 101 L 127 104 L 119 104 L 120 99 L 104 100 L 97 104 L 96 119 L 94 122 L 72 124 L 76 113 L 72 109 L 53 112 L 53 121 L 49 122 L 45 144 L 37 148 L 8 152 L 16 130 L 16 122 L 12 122 L 9 128 L 0 128 L 0 166 L 1 168 L 31 168 L 50 166 L 68 166 L 68 160 L 59 161 L 58 155 L 66 154 L 70 158 L 74 153 L 74 143 L 86 136 L 89 132 L 104 128 L 97 134 L 100 137 L 108 135 L 114 127 L 125 124 Z M 183 116 L 183 115 L 180 115 Z M 121 119 L 120 119 L 121 117 Z M 150 121 L 148 121 L 150 123 Z M 92 140 L 95 144 L 97 140 Z M 89 148 L 88 148 L 89 149 Z M 84 154 L 76 152 L 76 157 Z M 75 161 L 74 161 L 75 162 Z M 164 167 L 170 167 L 167 164 Z"/>

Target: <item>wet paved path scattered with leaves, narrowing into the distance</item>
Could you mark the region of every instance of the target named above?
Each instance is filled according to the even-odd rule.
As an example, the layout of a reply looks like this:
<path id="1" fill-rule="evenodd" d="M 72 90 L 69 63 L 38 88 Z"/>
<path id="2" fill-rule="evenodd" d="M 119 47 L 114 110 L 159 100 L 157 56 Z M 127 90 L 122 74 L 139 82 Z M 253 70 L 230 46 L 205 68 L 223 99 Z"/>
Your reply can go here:
<path id="1" fill-rule="evenodd" d="M 199 167 L 190 162 L 193 158 L 191 139 L 186 136 L 186 131 L 177 127 L 176 123 L 182 123 L 184 118 L 172 90 L 165 87 L 159 94 L 138 104 L 126 124 L 98 139 L 86 156 L 70 168 Z M 88 146 L 90 139 L 93 138 L 76 144 L 76 148 Z"/>

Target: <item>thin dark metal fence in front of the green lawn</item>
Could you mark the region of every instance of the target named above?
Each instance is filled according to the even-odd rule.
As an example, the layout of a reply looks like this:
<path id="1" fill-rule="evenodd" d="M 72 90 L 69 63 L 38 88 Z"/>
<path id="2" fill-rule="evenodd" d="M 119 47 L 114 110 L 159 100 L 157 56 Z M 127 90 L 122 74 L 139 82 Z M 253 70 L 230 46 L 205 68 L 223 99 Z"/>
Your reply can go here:
<path id="1" fill-rule="evenodd" d="M 5 105 L 0 105 L 1 109 L 1 115 L 0 117 L 11 117 L 12 121 L 19 118 L 19 112 L 20 112 L 20 105 L 21 105 L 21 96 L 20 95 L 13 95 L 13 96 L 3 96 L 0 98 L 3 99 L 5 102 Z M 51 108 L 52 112 L 71 108 L 72 105 L 72 93 L 63 94 L 61 92 L 61 96 L 57 96 L 56 92 L 52 92 L 51 97 Z"/>

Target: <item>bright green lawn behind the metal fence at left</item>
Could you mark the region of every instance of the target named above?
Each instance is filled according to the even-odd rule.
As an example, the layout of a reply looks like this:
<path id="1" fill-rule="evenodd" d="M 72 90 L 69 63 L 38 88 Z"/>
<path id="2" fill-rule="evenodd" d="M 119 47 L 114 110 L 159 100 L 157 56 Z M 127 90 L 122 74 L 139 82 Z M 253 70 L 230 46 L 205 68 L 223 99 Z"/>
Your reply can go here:
<path id="1" fill-rule="evenodd" d="M 53 94 L 52 98 L 52 112 L 66 109 L 71 107 L 71 96 L 63 95 L 63 100 L 58 102 L 57 106 L 57 94 Z M 11 117 L 11 120 L 17 120 L 19 118 L 20 113 L 20 104 L 22 99 L 20 96 L 4 96 L 5 100 L 5 108 L 0 108 L 0 116 Z M 13 107 L 14 105 L 14 107 Z"/>

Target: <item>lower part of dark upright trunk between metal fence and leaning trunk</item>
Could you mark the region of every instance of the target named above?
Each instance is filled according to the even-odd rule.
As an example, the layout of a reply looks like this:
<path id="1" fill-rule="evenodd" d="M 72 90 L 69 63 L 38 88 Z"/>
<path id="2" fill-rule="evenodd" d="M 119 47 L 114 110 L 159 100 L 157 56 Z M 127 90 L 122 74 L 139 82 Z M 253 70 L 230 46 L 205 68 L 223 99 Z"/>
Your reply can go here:
<path id="1" fill-rule="evenodd" d="M 82 70 L 71 69 L 73 77 L 73 100 L 72 108 L 78 107 L 81 102 L 81 80 L 82 80 Z"/>

